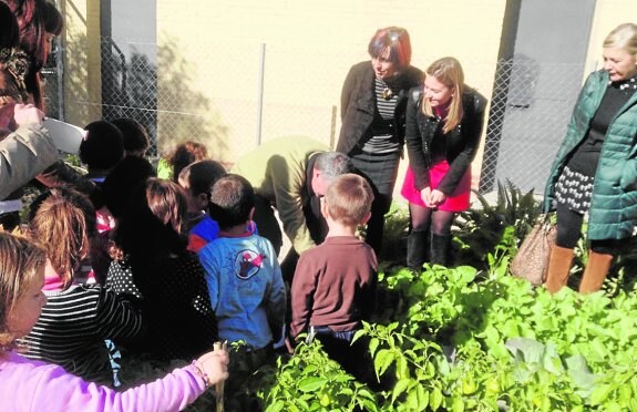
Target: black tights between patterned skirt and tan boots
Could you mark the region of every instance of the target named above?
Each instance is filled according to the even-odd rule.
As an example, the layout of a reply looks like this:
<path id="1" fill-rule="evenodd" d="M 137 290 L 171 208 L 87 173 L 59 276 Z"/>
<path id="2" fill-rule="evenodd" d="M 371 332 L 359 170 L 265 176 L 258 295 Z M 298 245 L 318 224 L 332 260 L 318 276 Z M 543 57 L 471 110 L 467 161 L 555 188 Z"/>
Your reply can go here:
<path id="1" fill-rule="evenodd" d="M 557 238 L 555 244 L 559 247 L 573 249 L 577 246 L 582 234 L 584 215 L 571 210 L 568 206 L 557 204 Z M 590 249 L 605 255 L 616 255 L 620 243 L 615 239 L 590 240 Z"/>

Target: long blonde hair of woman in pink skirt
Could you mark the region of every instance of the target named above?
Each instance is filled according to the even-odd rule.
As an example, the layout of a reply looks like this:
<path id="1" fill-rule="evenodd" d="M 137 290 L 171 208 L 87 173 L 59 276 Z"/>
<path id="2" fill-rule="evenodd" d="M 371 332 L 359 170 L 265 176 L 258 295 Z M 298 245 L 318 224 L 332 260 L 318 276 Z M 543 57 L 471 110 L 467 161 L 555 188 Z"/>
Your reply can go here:
<path id="1" fill-rule="evenodd" d="M 464 72 L 462 65 L 455 58 L 442 58 L 427 69 L 425 76 L 433 76 L 439 82 L 453 91 L 449 113 L 444 120 L 442 132 L 451 132 L 462 122 L 462 94 L 464 93 Z M 428 116 L 433 116 L 433 110 L 427 99 L 423 100 L 422 112 Z"/>

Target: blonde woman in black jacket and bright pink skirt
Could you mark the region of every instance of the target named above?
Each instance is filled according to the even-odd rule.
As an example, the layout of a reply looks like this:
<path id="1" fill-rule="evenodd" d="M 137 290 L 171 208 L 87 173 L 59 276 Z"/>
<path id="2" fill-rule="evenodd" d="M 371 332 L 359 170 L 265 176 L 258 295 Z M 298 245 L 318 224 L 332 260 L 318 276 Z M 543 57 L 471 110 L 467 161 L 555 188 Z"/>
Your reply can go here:
<path id="1" fill-rule="evenodd" d="M 409 200 L 407 265 L 448 264 L 451 224 L 469 208 L 471 162 L 482 135 L 486 99 L 464 84 L 462 65 L 442 58 L 425 71 L 421 93 L 407 105 L 409 169 L 401 194 Z M 430 235 L 431 234 L 431 235 Z"/>

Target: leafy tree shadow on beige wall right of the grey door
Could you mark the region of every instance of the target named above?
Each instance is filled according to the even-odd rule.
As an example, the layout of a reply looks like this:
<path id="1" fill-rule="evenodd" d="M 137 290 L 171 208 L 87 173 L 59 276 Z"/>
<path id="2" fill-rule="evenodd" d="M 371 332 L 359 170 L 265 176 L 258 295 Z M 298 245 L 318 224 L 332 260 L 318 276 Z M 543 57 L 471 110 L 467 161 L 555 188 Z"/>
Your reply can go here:
<path id="1" fill-rule="evenodd" d="M 228 127 L 210 100 L 193 84 L 195 65 L 179 53 L 175 39 L 157 48 L 157 145 L 160 153 L 186 141 L 204 143 L 212 158 L 226 158 Z M 214 75 L 212 72 L 209 75 Z"/>

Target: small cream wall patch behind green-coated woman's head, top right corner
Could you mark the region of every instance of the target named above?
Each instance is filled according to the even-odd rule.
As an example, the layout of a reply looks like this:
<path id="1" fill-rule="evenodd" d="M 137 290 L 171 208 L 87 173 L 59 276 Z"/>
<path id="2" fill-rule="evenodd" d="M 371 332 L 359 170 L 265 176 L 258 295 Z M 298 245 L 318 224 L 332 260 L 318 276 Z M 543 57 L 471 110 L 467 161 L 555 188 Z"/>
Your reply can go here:
<path id="1" fill-rule="evenodd" d="M 613 29 L 621 23 L 637 23 L 637 1 L 597 0 L 590 31 L 590 41 L 588 43 L 585 76 L 593 70 L 602 69 L 604 63 L 602 60 L 604 39 Z"/>

